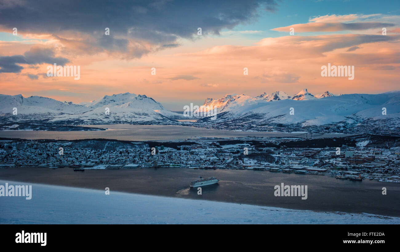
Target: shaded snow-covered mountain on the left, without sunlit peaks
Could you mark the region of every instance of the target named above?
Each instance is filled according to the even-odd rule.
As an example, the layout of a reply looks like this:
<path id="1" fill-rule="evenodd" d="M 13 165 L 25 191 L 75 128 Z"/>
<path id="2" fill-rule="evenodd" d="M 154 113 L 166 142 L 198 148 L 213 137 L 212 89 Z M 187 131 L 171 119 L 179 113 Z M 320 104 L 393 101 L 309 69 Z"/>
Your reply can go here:
<path id="1" fill-rule="evenodd" d="M 17 108 L 17 114 L 12 114 Z M 106 114 L 109 112 L 109 114 Z M 0 122 L 38 121 L 63 124 L 175 122 L 187 119 L 166 110 L 146 95 L 106 95 L 100 100 L 74 104 L 41 96 L 0 95 Z"/>

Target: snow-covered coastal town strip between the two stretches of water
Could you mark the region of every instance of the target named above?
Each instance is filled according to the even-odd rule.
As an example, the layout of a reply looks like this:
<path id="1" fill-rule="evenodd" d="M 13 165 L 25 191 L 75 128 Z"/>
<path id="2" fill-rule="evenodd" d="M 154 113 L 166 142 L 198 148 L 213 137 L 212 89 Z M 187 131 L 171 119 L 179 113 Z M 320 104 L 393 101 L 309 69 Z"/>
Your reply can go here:
<path id="1" fill-rule="evenodd" d="M 355 146 L 342 143 L 336 148 L 293 147 L 294 143 L 301 146 L 305 141 L 328 140 L 0 140 L 0 168 L 49 167 L 73 168 L 74 171 L 150 167 L 244 169 L 400 183 L 400 147 L 396 144 L 390 148 L 376 148 L 376 144 L 370 144 L 372 141 L 368 136 L 360 136 L 348 140 L 356 142 Z"/>

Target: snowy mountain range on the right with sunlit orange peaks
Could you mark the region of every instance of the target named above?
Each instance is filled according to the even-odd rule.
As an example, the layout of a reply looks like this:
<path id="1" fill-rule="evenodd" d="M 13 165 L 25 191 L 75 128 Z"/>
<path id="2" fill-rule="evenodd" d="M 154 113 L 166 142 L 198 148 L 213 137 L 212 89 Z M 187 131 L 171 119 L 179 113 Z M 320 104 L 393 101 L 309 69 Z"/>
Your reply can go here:
<path id="1" fill-rule="evenodd" d="M 198 123 L 224 129 L 265 131 L 276 130 L 277 125 L 297 130 L 332 128 L 335 132 L 354 127 L 386 127 L 389 132 L 400 129 L 400 91 L 340 96 L 326 92 L 324 95 L 316 98 L 303 89 L 292 99 L 274 102 L 269 102 L 270 96 L 266 93 L 256 97 L 242 95 L 239 98 L 241 106 L 238 106 L 239 102 L 226 102 L 216 120 L 203 118 Z M 294 114 L 290 114 L 291 108 Z M 383 108 L 386 108 L 386 114 L 382 114 Z"/>

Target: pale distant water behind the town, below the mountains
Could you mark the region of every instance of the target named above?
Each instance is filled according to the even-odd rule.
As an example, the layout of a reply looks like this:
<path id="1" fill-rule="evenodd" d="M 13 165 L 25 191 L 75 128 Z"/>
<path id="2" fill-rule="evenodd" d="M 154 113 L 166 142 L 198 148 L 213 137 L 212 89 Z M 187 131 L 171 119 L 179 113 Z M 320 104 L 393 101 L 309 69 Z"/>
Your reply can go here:
<path id="1" fill-rule="evenodd" d="M 76 140 L 90 138 L 105 138 L 128 141 L 156 141 L 156 140 L 178 140 L 196 137 L 287 137 L 296 136 L 300 133 L 282 132 L 236 132 L 230 130 L 213 130 L 196 128 L 191 126 L 175 125 L 92 125 L 88 127 L 108 128 L 101 131 L 0 131 L 1 138 L 22 138 L 22 139 L 56 139 Z M 324 134 L 320 137 L 345 136 L 344 134 Z"/>

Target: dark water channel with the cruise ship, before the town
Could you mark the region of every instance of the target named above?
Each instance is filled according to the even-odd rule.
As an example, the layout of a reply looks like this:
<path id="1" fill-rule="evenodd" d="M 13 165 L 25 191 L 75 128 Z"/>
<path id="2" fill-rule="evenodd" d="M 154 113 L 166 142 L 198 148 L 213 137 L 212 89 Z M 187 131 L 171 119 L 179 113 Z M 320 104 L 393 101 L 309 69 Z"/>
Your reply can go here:
<path id="1" fill-rule="evenodd" d="M 202 187 L 202 195 L 189 183 L 198 176 L 220 179 Z M 71 168 L 0 169 L 0 179 L 124 191 L 168 197 L 205 199 L 250 205 L 313 211 L 341 211 L 400 216 L 400 184 L 350 181 L 332 176 L 276 173 L 252 170 L 204 170 L 187 168 L 142 168 L 73 171 Z M 308 199 L 275 197 L 274 186 L 307 185 Z M 387 195 L 382 195 L 386 187 Z M 160 206 L 162 207 L 162 206 Z"/>

